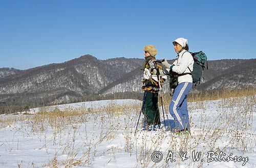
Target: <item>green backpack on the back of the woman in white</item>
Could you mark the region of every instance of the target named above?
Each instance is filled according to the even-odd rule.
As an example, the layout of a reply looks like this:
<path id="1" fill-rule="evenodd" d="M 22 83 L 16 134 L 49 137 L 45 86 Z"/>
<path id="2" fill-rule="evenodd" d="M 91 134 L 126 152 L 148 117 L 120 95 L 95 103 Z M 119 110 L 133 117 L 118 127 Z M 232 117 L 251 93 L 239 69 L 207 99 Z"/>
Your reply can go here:
<path id="1" fill-rule="evenodd" d="M 191 72 L 192 78 L 193 78 L 193 83 L 196 85 L 200 84 L 201 79 L 204 79 L 203 73 L 204 73 L 204 63 L 206 62 L 206 66 L 208 69 L 208 62 L 207 62 L 207 56 L 202 52 L 196 52 L 196 53 L 191 53 L 189 52 L 194 59 L 194 65 L 193 65 L 193 71 L 191 71 L 188 67 L 188 69 Z"/>

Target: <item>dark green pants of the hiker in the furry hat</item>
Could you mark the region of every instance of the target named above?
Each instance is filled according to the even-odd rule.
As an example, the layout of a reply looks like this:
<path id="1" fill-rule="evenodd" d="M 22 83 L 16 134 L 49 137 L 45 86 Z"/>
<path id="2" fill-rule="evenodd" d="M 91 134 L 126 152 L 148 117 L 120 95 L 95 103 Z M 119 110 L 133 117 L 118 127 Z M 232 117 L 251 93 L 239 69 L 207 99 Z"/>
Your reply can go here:
<path id="1" fill-rule="evenodd" d="M 143 109 L 144 121 L 148 125 L 160 124 L 160 114 L 158 109 L 158 93 L 147 92 Z"/>

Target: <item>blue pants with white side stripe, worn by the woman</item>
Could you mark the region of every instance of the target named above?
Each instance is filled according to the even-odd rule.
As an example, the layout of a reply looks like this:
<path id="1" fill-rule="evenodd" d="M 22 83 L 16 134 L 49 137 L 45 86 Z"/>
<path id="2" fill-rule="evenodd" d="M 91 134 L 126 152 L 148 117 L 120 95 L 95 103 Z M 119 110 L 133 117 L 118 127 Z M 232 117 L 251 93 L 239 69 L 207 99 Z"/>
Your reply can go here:
<path id="1" fill-rule="evenodd" d="M 174 95 L 169 105 L 170 115 L 173 116 L 177 130 L 189 129 L 187 110 L 187 94 L 192 88 L 192 83 L 182 82 L 174 90 Z"/>

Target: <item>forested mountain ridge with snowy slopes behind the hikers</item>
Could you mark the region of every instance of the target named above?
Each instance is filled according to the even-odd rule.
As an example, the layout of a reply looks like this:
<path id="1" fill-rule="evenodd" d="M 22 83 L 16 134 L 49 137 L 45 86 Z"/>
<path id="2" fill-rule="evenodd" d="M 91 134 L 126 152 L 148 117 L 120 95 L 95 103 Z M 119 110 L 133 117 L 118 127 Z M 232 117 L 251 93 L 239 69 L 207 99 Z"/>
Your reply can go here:
<path id="1" fill-rule="evenodd" d="M 174 60 L 168 60 L 172 63 Z M 0 68 L 0 102 L 51 105 L 90 100 L 95 96 L 141 91 L 144 59 L 100 60 L 83 55 L 63 63 L 26 70 Z M 204 83 L 197 89 L 212 90 L 255 86 L 256 59 L 208 61 Z M 249 69 L 249 70 L 248 70 Z M 163 85 L 168 92 L 168 79 Z"/>

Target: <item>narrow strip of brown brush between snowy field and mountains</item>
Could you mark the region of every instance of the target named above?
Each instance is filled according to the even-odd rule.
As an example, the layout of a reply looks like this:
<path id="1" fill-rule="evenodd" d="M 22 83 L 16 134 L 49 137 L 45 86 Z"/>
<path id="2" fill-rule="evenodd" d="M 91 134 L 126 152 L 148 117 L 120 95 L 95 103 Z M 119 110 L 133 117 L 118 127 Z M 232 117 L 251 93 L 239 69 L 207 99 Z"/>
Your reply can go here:
<path id="1" fill-rule="evenodd" d="M 256 88 L 244 88 L 244 89 L 236 89 L 236 90 L 195 90 L 189 92 L 188 94 L 188 102 L 194 101 L 203 101 L 203 100 L 216 100 L 221 98 L 230 98 L 230 97 L 241 97 L 248 95 L 256 95 Z M 60 96 L 60 95 L 59 95 Z M 170 95 L 165 93 L 163 95 L 166 103 L 170 101 Z M 33 99 L 30 99 L 33 98 Z M 23 95 L 22 98 L 18 96 L 13 96 L 6 102 L 0 102 L 0 114 L 8 114 L 15 113 L 17 111 L 26 111 L 29 108 L 35 107 L 44 107 L 51 105 L 58 105 L 58 103 L 49 103 L 49 102 L 57 102 L 58 97 L 49 97 L 47 99 L 42 99 L 38 97 L 34 99 L 33 97 L 29 97 L 29 95 Z M 113 100 L 113 99 L 135 99 L 142 100 L 143 93 L 138 92 L 119 92 L 114 94 L 106 94 L 106 95 L 87 95 L 80 98 L 70 97 L 69 101 L 62 102 L 61 104 L 67 103 L 77 103 L 77 102 L 89 102 L 89 101 L 99 101 L 99 100 Z M 160 96 L 159 96 L 160 99 Z M 30 102 L 30 103 L 29 103 Z M 160 103 L 160 101 L 159 101 Z M 160 104 L 159 104 L 160 105 Z"/>

